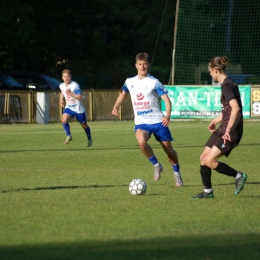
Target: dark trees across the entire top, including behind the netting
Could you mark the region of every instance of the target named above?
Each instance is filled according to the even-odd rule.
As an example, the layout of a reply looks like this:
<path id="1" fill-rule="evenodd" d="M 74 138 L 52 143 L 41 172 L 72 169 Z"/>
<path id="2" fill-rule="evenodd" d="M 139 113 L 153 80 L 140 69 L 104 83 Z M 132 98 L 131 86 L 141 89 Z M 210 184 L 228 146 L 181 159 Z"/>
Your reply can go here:
<path id="1" fill-rule="evenodd" d="M 234 11 L 227 53 L 230 1 Z M 2 0 L 0 69 L 60 74 L 68 68 L 74 75 L 109 75 L 112 87 L 119 87 L 136 73 L 135 55 L 147 52 L 151 74 L 167 84 L 175 8 L 176 0 Z M 255 74 L 260 36 L 248 28 L 259 28 L 259 9 L 255 0 L 180 0 L 177 83 L 191 84 L 192 68 L 214 55 L 228 54 L 246 73 Z"/>

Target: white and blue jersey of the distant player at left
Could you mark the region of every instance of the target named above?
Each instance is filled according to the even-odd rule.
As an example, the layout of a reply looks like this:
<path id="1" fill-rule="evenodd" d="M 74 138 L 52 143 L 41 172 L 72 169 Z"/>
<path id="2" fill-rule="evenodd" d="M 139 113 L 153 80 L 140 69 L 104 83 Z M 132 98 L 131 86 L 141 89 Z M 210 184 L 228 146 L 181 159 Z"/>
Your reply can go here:
<path id="1" fill-rule="evenodd" d="M 64 98 L 66 100 L 65 109 L 69 108 L 70 110 L 72 110 L 73 112 L 78 113 L 78 114 L 82 114 L 82 113 L 86 112 L 86 109 L 85 109 L 83 103 L 80 100 L 68 95 L 65 91 L 66 89 L 70 89 L 70 91 L 74 94 L 82 94 L 80 86 L 77 82 L 71 81 L 71 83 L 68 86 L 66 86 L 64 82 L 61 83 L 60 90 L 63 93 Z"/>

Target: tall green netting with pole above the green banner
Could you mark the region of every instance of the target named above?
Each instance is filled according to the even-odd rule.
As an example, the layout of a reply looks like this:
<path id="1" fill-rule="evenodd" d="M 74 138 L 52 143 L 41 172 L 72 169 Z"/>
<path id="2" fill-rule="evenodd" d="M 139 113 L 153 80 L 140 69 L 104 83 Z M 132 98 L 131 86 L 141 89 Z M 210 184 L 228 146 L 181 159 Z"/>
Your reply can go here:
<path id="1" fill-rule="evenodd" d="M 260 1 L 179 0 L 169 83 L 212 84 L 208 61 L 227 56 L 238 84 L 259 84 Z"/>

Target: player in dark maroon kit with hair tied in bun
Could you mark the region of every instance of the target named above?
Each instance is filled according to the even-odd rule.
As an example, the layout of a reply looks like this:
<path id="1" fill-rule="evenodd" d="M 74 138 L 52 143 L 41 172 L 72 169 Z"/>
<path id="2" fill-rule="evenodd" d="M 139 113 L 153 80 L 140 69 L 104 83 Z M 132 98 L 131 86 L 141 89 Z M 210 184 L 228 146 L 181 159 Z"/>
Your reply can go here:
<path id="1" fill-rule="evenodd" d="M 218 162 L 221 156 L 228 157 L 232 149 L 239 144 L 243 135 L 240 93 L 237 84 L 225 72 L 227 63 L 228 58 L 223 56 L 212 58 L 208 64 L 212 79 L 221 84 L 222 113 L 213 119 L 208 126 L 212 135 L 200 156 L 200 174 L 204 191 L 192 196 L 192 199 L 214 198 L 211 170 L 235 178 L 235 194 L 241 192 L 247 180 L 245 173 L 237 171 L 223 162 Z M 218 123 L 220 126 L 216 129 Z"/>

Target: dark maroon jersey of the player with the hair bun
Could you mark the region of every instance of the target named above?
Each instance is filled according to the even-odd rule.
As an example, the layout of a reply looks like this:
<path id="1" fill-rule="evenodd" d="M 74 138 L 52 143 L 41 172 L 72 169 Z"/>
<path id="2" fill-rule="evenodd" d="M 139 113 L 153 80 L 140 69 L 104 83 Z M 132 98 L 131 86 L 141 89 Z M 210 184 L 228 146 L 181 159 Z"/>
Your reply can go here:
<path id="1" fill-rule="evenodd" d="M 237 121 L 235 122 L 232 129 L 230 130 L 230 134 L 235 134 L 235 135 L 242 134 L 243 133 L 243 111 L 242 111 L 240 92 L 237 84 L 231 78 L 227 77 L 221 84 L 220 101 L 221 101 L 221 108 L 222 108 L 222 122 L 218 130 L 222 134 L 226 132 L 228 121 L 230 119 L 231 106 L 229 105 L 229 102 L 232 99 L 237 100 L 237 103 L 240 107 L 240 111 L 239 111 L 239 117 L 237 118 Z"/>

